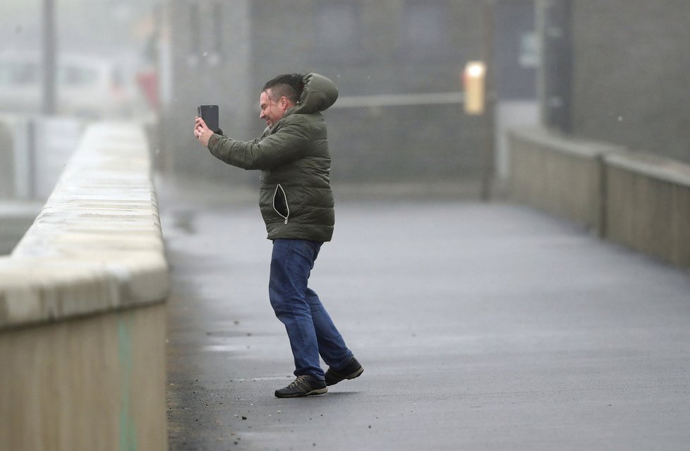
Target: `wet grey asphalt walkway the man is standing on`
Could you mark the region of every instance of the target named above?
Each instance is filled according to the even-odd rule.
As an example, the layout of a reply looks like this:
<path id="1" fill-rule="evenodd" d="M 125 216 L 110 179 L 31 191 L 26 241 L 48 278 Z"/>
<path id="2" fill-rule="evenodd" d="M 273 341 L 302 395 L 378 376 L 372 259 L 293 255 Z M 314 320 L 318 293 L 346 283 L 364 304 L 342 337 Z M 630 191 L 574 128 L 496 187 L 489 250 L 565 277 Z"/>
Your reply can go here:
<path id="1" fill-rule="evenodd" d="M 159 186 L 170 450 L 687 450 L 690 275 L 518 205 L 337 198 L 310 286 L 360 378 L 293 380 L 255 196 Z"/>

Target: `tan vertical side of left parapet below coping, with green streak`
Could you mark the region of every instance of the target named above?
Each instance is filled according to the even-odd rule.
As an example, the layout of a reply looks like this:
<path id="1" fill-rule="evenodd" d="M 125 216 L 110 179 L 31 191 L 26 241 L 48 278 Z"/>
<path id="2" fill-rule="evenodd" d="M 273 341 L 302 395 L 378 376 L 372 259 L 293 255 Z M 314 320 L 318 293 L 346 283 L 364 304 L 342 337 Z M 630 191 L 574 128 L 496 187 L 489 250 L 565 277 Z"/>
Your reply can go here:
<path id="1" fill-rule="evenodd" d="M 0 333 L 0 449 L 167 449 L 164 310 Z"/>

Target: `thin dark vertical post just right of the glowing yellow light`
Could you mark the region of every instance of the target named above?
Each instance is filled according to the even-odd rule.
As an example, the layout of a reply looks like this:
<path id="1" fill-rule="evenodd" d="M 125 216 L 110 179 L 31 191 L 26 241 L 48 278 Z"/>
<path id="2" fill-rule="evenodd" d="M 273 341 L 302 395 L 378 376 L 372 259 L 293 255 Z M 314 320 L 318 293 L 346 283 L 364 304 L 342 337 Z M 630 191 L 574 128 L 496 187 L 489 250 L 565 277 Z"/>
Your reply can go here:
<path id="1" fill-rule="evenodd" d="M 484 14 L 484 61 L 486 62 L 485 92 L 485 147 L 483 152 L 483 172 L 481 199 L 489 200 L 494 173 L 494 134 L 495 134 L 495 104 L 496 93 L 494 83 L 494 5 L 495 0 L 485 0 Z"/>

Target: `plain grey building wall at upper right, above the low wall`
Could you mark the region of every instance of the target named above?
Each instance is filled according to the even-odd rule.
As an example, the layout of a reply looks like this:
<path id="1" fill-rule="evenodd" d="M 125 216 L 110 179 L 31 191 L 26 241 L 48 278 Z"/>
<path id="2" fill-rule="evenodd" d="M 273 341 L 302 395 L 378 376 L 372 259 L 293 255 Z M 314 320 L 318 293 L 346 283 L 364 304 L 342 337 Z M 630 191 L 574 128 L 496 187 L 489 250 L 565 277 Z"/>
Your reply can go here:
<path id="1" fill-rule="evenodd" d="M 690 2 L 571 4 L 572 132 L 690 163 Z"/>

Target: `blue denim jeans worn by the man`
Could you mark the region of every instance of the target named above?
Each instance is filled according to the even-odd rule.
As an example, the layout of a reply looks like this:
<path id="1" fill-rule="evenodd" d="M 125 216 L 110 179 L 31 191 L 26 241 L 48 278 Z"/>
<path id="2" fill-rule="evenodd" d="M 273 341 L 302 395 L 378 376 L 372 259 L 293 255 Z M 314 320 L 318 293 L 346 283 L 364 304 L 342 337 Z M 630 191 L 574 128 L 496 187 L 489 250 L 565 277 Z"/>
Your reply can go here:
<path id="1" fill-rule="evenodd" d="M 319 355 L 328 366 L 342 368 L 352 352 L 319 296 L 307 287 L 321 245 L 319 241 L 301 239 L 274 240 L 268 291 L 273 310 L 290 339 L 295 375 L 323 380 Z"/>

